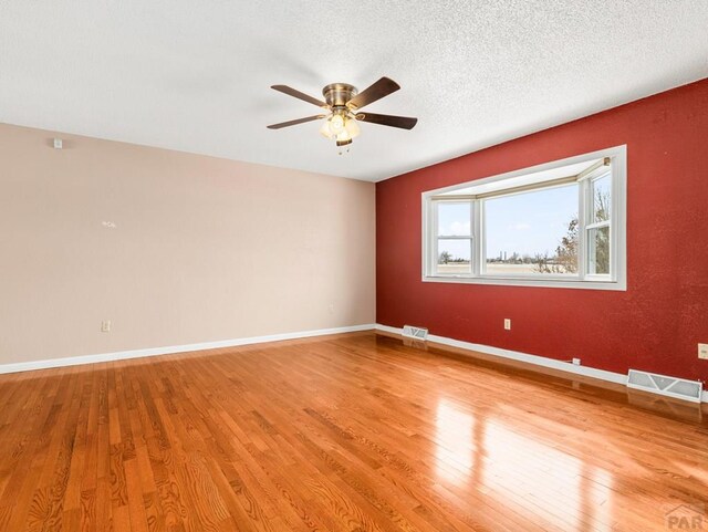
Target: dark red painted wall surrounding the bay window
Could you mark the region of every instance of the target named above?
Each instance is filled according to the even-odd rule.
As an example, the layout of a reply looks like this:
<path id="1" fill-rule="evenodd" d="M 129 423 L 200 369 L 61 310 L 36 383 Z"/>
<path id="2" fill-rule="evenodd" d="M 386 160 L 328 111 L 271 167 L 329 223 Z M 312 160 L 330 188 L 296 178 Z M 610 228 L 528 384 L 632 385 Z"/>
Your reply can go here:
<path id="1" fill-rule="evenodd" d="M 626 292 L 420 281 L 421 192 L 622 144 Z M 378 323 L 708 379 L 708 80 L 378 182 L 376 216 Z"/>

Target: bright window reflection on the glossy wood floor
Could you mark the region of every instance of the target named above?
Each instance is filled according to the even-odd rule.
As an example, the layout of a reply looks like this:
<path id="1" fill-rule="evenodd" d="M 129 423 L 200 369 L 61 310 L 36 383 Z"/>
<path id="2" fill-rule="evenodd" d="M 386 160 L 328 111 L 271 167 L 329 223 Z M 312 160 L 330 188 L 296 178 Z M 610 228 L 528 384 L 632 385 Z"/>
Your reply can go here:
<path id="1" fill-rule="evenodd" d="M 612 474 L 534 439 L 494 415 L 475 414 L 441 398 L 436 411 L 436 473 L 444 483 L 471 487 L 519 513 L 539 510 L 562 530 L 610 530 Z"/>

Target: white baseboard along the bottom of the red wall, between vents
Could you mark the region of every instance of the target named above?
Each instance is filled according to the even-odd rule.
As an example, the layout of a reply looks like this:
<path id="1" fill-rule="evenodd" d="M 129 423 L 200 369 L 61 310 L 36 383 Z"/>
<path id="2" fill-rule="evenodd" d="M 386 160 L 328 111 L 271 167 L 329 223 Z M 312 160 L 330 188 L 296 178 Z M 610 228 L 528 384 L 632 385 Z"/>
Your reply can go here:
<path id="1" fill-rule="evenodd" d="M 377 331 L 384 331 L 392 334 L 402 334 L 403 328 L 391 327 L 388 325 L 376 324 Z M 568 362 L 556 361 L 555 358 L 548 358 L 545 356 L 530 355 L 528 353 L 520 353 L 518 351 L 503 350 L 501 347 L 492 347 L 490 345 L 473 344 L 471 342 L 462 342 L 461 340 L 448 338 L 446 336 L 436 336 L 435 334 L 428 334 L 429 342 L 437 344 L 449 345 L 451 347 L 458 347 L 466 351 L 476 351 L 478 353 L 485 353 L 488 355 L 496 355 L 503 358 L 510 358 L 512 361 L 527 362 L 537 366 L 549 367 L 551 369 L 559 369 L 561 372 L 572 373 L 575 375 L 582 375 L 584 377 L 598 378 L 610 383 L 627 385 L 627 376 L 620 373 L 607 372 L 605 369 L 597 369 L 589 366 L 576 366 Z M 708 390 L 702 392 L 702 403 L 708 403 Z"/>

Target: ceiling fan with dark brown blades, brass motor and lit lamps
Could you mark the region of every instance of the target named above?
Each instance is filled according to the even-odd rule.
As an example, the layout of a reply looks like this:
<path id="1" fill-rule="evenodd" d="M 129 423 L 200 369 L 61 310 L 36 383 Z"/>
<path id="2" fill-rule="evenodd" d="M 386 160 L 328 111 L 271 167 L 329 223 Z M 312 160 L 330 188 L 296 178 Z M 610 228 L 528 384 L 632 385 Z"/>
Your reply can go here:
<path id="1" fill-rule="evenodd" d="M 407 116 L 360 112 L 365 105 L 374 103 L 384 96 L 388 96 L 400 88 L 395 81 L 388 77 L 382 77 L 361 93 L 354 85 L 350 85 L 348 83 L 332 83 L 322 90 L 324 102 L 301 93 L 288 85 L 272 85 L 271 88 L 322 107 L 324 113 L 305 118 L 281 122 L 280 124 L 272 124 L 268 126 L 269 129 L 281 129 L 283 127 L 324 118 L 320 133 L 327 138 L 334 138 L 337 146 L 352 144 L 352 139 L 358 136 L 360 127 L 357 122 L 369 122 L 372 124 L 398 127 L 402 129 L 413 129 L 418 122 L 418 118 Z"/>

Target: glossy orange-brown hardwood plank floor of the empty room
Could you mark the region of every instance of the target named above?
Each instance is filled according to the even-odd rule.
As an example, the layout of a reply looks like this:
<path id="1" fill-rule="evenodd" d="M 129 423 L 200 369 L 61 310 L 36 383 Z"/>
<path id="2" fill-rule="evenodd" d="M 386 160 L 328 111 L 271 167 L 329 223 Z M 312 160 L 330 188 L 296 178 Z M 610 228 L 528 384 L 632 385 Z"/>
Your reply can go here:
<path id="1" fill-rule="evenodd" d="M 706 413 L 627 394 L 371 332 L 1 375 L 0 531 L 708 530 Z"/>

